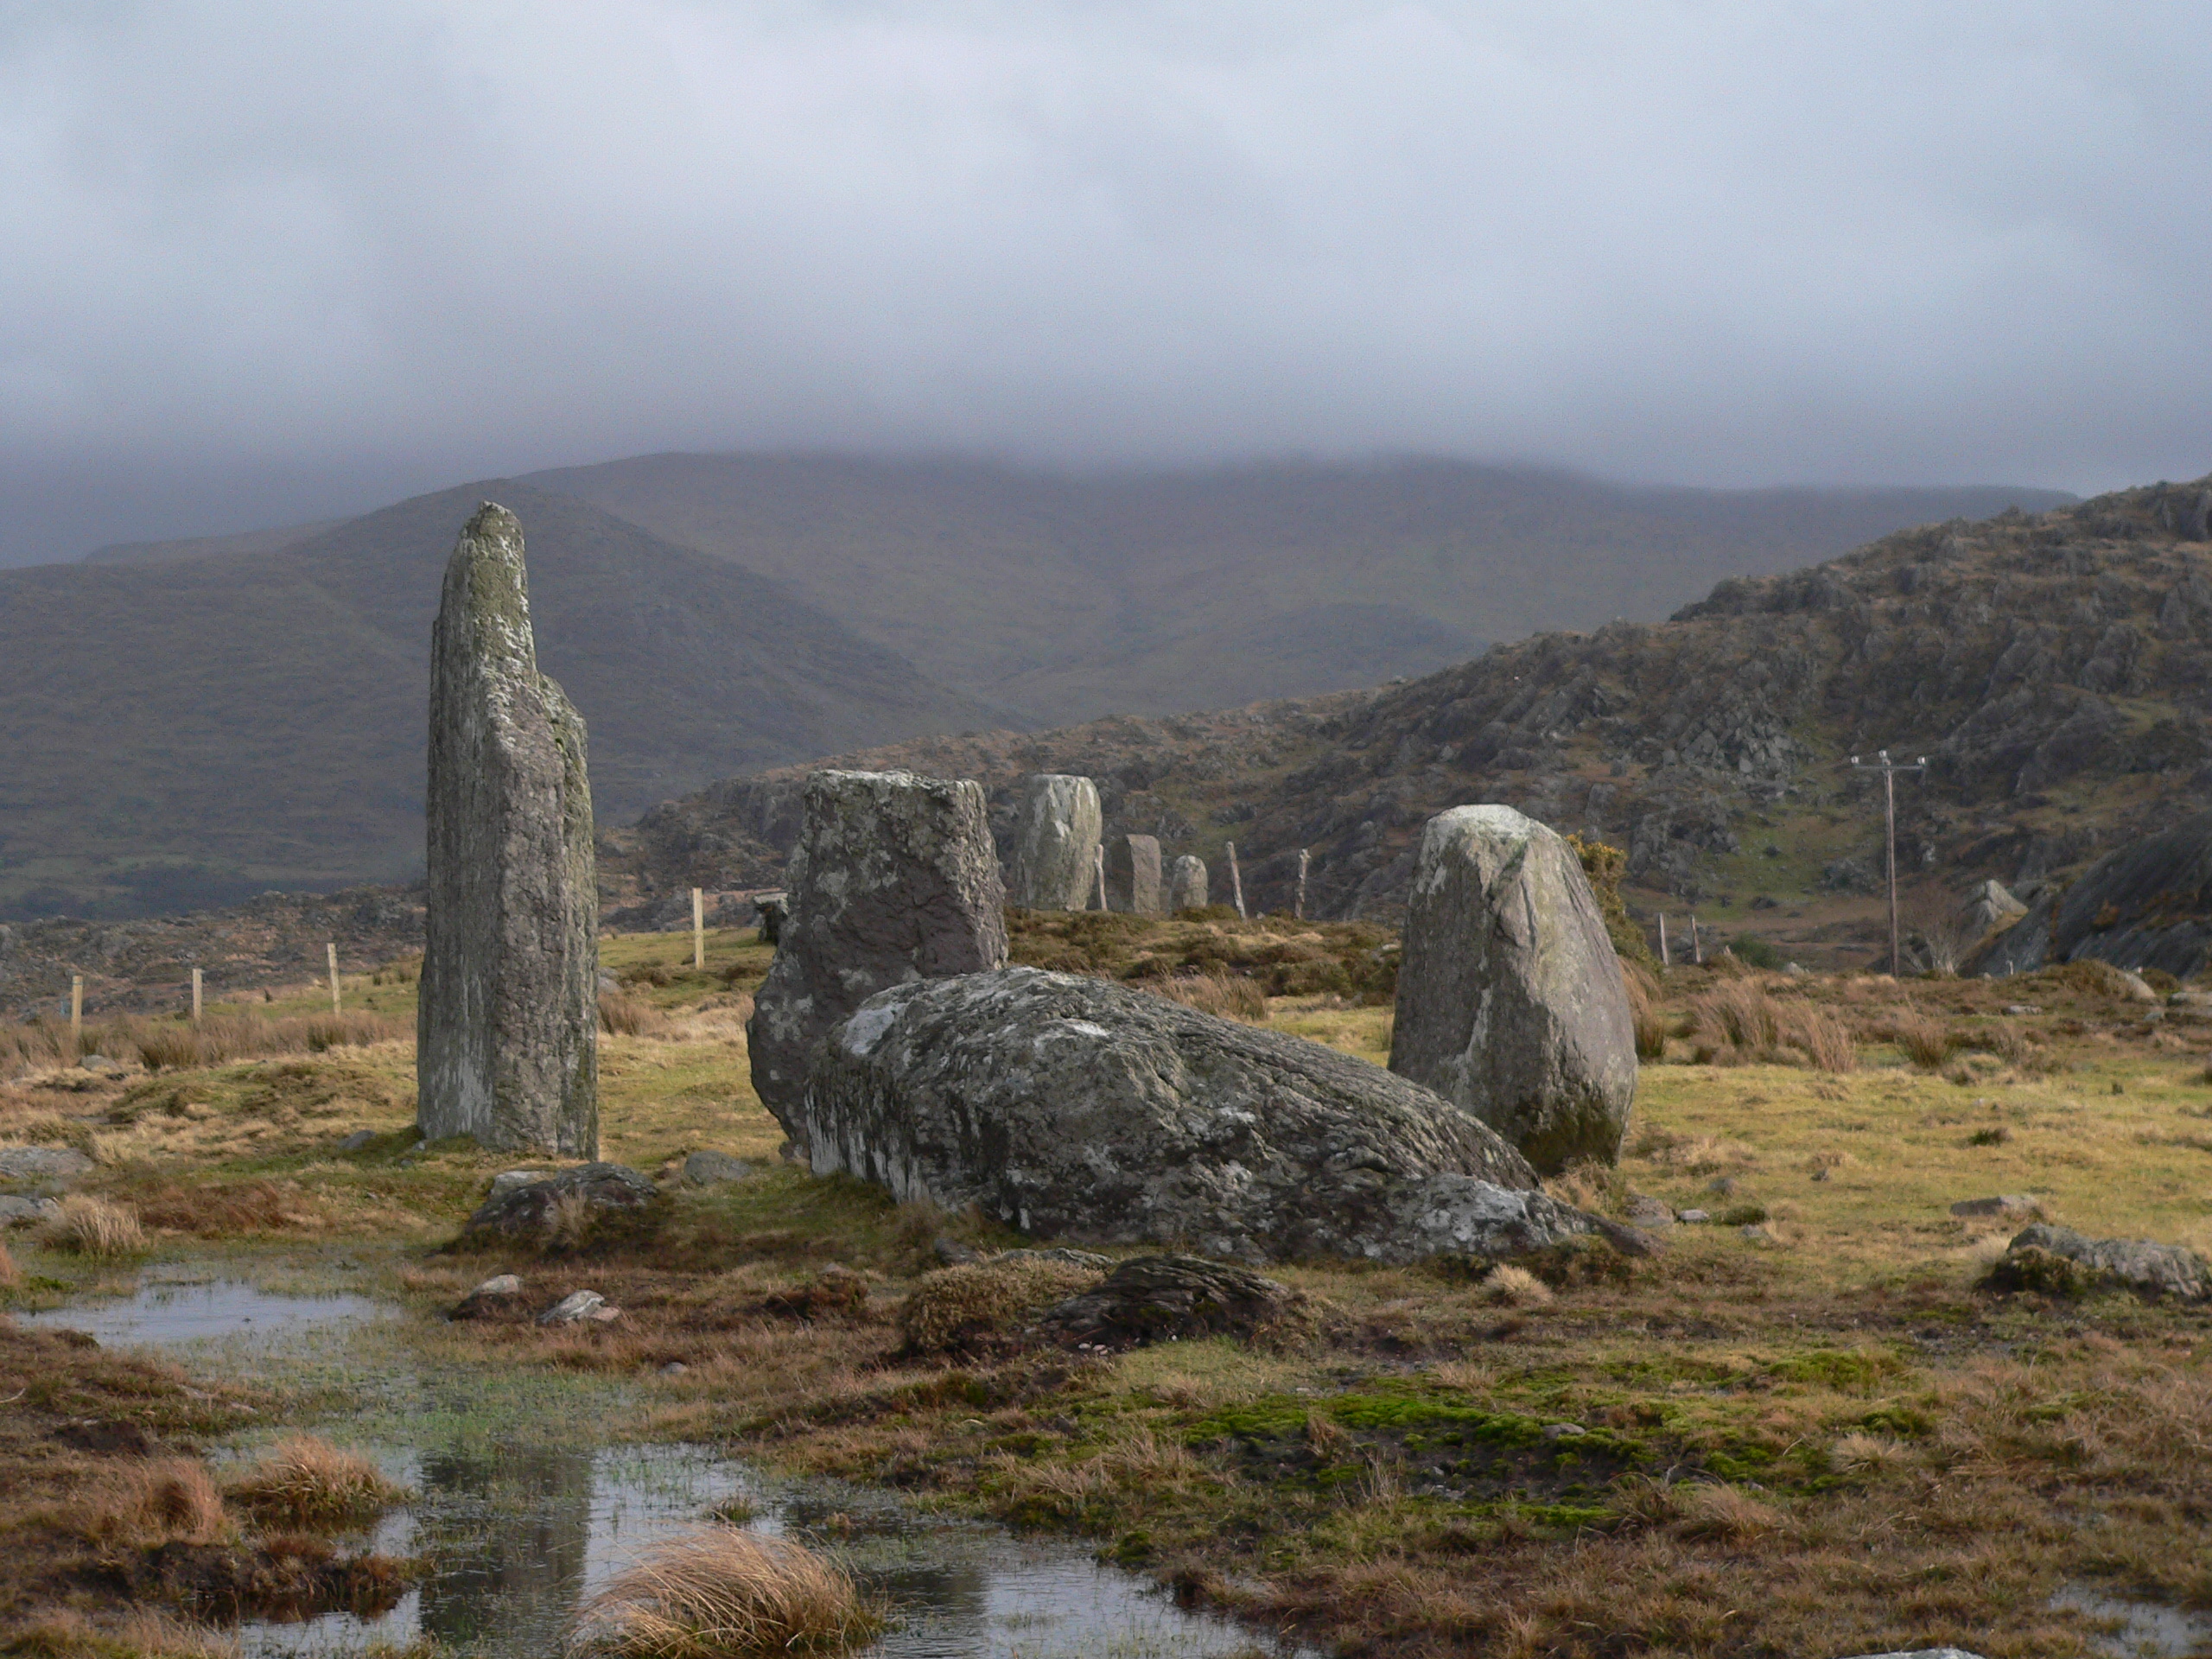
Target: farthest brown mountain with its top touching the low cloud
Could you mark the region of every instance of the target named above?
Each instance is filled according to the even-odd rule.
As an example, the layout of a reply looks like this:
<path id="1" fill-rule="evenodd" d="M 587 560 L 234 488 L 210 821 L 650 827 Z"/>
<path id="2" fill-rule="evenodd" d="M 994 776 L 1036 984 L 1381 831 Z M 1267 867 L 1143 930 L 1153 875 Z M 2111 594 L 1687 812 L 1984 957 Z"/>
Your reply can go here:
<path id="1" fill-rule="evenodd" d="M 2073 500 L 1646 489 L 1451 460 L 1062 476 L 969 460 L 644 456 L 533 473 L 781 577 L 1026 726 L 1376 686 L 1728 575 Z"/>

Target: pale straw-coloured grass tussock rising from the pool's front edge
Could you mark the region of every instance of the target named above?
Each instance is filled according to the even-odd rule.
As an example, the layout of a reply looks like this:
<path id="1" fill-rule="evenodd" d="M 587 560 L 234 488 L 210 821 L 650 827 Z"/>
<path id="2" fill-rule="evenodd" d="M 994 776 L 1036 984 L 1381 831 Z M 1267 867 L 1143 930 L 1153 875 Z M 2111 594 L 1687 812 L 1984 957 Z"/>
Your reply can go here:
<path id="1" fill-rule="evenodd" d="M 801 1544 L 703 1526 L 659 1544 L 586 1601 L 571 1659 L 830 1652 L 880 1628 L 852 1579 Z"/>

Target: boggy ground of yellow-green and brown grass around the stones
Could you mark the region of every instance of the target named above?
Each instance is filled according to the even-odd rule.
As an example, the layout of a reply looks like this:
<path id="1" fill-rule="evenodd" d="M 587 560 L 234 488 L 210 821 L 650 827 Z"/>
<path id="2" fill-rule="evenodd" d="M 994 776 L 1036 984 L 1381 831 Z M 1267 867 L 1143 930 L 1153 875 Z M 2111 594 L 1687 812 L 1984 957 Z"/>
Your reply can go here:
<path id="1" fill-rule="evenodd" d="M 1040 1274 L 1026 1292 L 969 1287 L 962 1345 L 927 1352 L 911 1336 L 933 1327 L 902 1312 L 916 1285 L 947 1294 L 936 1243 L 1013 1239 L 776 1164 L 743 1048 L 768 951 L 714 936 L 701 973 L 688 945 L 604 947 L 624 980 L 602 1051 L 606 1157 L 672 1172 L 710 1146 L 754 1159 L 752 1177 L 672 1188 L 641 1232 L 453 1252 L 513 1159 L 414 1144 L 400 1040 L 119 1079 L 33 1068 L 0 1088 L 0 1139 L 91 1152 L 77 1190 L 135 1208 L 148 1239 L 91 1261 L 15 1232 L 7 1296 L 51 1303 L 186 1254 L 281 1274 L 343 1245 L 425 1314 L 400 1329 L 431 1360 L 635 1378 L 639 1438 L 1075 1531 L 1188 1597 L 1345 1652 L 1955 1641 L 2026 1659 L 2097 1652 L 2097 1626 L 2053 1606 L 2075 1588 L 2212 1608 L 2212 1312 L 1993 1294 L 1980 1279 L 2017 1221 L 1949 1212 L 2026 1194 L 2084 1232 L 2212 1245 L 2212 1029 L 2185 1006 L 2084 969 L 2004 984 L 1677 969 L 1646 993 L 1628 1155 L 1557 1183 L 1624 1214 L 1641 1194 L 1714 1217 L 1668 1228 L 1663 1254 L 1486 1274 L 1290 1265 L 1276 1276 L 1312 1298 L 1310 1318 L 1272 1343 L 1124 1354 L 1024 1336 L 1037 1298 L 1066 1287 Z M 1389 1009 L 1363 1002 L 1374 969 L 1358 967 L 1387 960 L 1387 940 L 1290 920 L 1018 918 L 1015 951 L 1387 1053 Z M 1170 969 L 1130 973 L 1139 960 Z M 1254 995 L 1259 975 L 1332 973 L 1312 967 L 1325 960 L 1345 989 Z M 358 991 L 398 1020 L 411 984 L 398 971 Z M 372 1139 L 338 1150 L 352 1130 Z M 557 1332 L 429 1318 L 500 1270 L 526 1279 L 531 1310 L 595 1287 L 624 1314 Z M 159 1449 L 100 1455 L 168 1455 L 170 1438 L 230 1420 L 157 1367 L 66 1352 L 146 1378 L 155 1405 L 133 1411 L 181 1402 L 159 1405 L 184 1413 L 175 1429 L 146 1420 Z M 22 1537 L 42 1500 L 15 1498 L 29 1489 L 13 1478 L 7 1491 Z M 0 1553 L 15 1650 L 175 1641 L 100 1610 L 77 1608 L 80 1626 L 40 1613 L 71 1593 L 33 1559 Z M 157 1579 L 133 1586 L 139 1610 L 192 1610 Z"/>

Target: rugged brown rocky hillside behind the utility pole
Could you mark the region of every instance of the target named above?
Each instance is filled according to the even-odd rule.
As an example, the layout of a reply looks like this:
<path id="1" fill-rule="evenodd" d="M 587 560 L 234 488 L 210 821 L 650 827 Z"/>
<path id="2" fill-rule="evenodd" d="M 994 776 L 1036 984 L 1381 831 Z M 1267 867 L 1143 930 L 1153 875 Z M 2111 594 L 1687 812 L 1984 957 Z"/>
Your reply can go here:
<path id="1" fill-rule="evenodd" d="M 1099 779 L 1110 827 L 1219 858 L 1254 905 L 1312 847 L 1321 916 L 1387 918 L 1422 821 L 1509 801 L 1628 852 L 1632 902 L 1697 907 L 1807 960 L 1858 953 L 1880 785 L 1854 752 L 1927 754 L 1898 785 L 1909 909 L 1995 876 L 2033 896 L 2212 801 L 2212 478 L 1882 538 L 1730 580 L 1661 624 L 1546 633 L 1376 692 L 845 757 L 987 783 Z M 626 896 L 774 880 L 801 770 L 732 779 L 608 836 Z"/>

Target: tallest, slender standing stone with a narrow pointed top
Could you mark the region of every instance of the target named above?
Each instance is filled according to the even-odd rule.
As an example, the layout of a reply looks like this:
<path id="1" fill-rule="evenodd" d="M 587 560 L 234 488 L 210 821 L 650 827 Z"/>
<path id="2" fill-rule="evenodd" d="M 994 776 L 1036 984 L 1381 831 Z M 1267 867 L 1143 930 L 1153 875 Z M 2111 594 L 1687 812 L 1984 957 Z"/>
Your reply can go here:
<path id="1" fill-rule="evenodd" d="M 599 1155 L 599 885 L 584 719 L 538 672 L 522 524 L 484 502 L 429 668 L 422 1139 Z"/>

